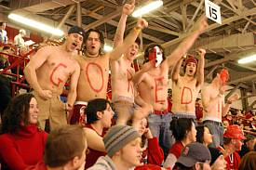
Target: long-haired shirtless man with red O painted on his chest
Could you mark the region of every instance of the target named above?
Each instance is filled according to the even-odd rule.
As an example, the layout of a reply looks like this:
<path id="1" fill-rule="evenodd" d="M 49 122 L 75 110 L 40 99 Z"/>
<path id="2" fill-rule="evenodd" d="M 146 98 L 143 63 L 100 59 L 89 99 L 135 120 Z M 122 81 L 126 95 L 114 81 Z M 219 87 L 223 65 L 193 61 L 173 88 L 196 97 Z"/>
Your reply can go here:
<path id="1" fill-rule="evenodd" d="M 102 54 L 104 38 L 97 30 L 88 30 L 86 33 L 85 56 L 76 56 L 81 67 L 81 74 L 77 85 L 77 98 L 74 104 L 74 113 L 71 124 L 77 124 L 80 118 L 80 108 L 87 105 L 88 100 L 93 98 L 106 98 L 107 83 L 109 76 L 109 62 L 120 59 L 122 54 L 128 51 L 141 29 L 147 27 L 146 20 L 138 20 L 136 27 L 128 34 L 123 43 L 106 54 Z"/>

